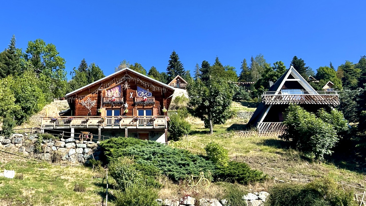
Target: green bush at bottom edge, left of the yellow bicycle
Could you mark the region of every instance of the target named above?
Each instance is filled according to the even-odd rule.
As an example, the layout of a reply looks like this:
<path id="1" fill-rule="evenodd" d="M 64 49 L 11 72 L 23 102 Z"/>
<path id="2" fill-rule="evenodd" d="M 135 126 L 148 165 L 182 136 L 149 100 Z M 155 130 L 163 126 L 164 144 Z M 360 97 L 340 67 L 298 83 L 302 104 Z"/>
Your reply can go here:
<path id="1" fill-rule="evenodd" d="M 158 206 L 155 201 L 158 198 L 158 191 L 143 185 L 134 184 L 125 191 L 115 192 L 114 196 L 116 206 Z"/>

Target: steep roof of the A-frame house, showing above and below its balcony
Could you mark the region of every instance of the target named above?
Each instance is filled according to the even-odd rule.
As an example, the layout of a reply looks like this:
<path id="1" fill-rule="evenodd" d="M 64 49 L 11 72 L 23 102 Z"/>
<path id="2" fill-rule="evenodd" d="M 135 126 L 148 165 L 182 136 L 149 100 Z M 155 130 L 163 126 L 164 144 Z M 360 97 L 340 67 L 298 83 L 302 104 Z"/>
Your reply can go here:
<path id="1" fill-rule="evenodd" d="M 279 92 L 287 80 L 296 80 L 305 91 L 315 91 L 315 89 L 311 87 L 310 84 L 292 66 L 285 71 L 282 76 L 280 76 L 280 78 L 269 88 L 269 91 L 276 91 L 276 93 Z M 257 109 L 250 118 L 248 125 L 255 126 L 262 119 L 262 116 L 267 109 L 268 105 L 265 105 L 263 102 L 259 103 Z"/>

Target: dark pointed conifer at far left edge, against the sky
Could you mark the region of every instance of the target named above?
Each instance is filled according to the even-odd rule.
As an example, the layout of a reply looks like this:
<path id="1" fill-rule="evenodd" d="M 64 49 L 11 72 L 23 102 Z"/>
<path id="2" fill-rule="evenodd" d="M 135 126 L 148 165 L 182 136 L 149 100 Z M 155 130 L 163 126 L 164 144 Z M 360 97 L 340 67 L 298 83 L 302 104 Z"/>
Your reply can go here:
<path id="1" fill-rule="evenodd" d="M 21 50 L 16 48 L 15 35 L 10 40 L 9 47 L 0 53 L 0 78 L 17 75 L 22 72 L 20 64 Z"/>

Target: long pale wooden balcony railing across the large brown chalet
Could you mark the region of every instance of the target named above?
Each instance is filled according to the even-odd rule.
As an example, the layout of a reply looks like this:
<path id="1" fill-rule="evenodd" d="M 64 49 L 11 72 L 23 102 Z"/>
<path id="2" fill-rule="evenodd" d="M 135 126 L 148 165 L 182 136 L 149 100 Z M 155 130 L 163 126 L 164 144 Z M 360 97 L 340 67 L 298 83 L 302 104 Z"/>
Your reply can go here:
<path id="1" fill-rule="evenodd" d="M 135 127 L 135 128 L 167 128 L 167 116 L 134 116 L 104 117 L 72 116 L 72 117 L 41 117 L 41 127 Z"/>

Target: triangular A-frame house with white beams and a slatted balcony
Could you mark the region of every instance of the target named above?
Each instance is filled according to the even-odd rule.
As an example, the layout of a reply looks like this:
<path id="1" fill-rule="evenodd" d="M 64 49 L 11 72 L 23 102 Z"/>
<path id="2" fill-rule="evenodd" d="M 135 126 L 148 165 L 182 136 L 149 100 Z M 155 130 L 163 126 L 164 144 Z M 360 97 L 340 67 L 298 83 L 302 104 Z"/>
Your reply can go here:
<path id="1" fill-rule="evenodd" d="M 257 127 L 260 133 L 283 133 L 283 113 L 289 104 L 298 104 L 309 112 L 317 112 L 320 108 L 335 107 L 340 102 L 337 91 L 315 91 L 291 66 L 269 91 L 262 94 L 262 101 L 248 125 Z"/>

